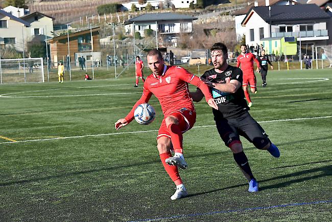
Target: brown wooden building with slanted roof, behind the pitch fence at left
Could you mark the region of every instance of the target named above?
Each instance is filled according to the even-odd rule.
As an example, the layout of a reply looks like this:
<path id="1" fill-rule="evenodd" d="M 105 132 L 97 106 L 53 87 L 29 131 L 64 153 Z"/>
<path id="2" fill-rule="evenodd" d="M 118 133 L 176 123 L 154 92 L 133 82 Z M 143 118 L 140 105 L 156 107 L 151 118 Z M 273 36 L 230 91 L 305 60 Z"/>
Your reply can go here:
<path id="1" fill-rule="evenodd" d="M 86 62 L 92 62 L 93 60 L 101 60 L 100 44 L 99 44 L 99 31 L 100 27 L 93 29 L 83 30 L 79 32 L 73 32 L 63 34 L 54 37 L 48 42 L 50 43 L 51 60 L 55 67 L 58 66 L 58 62 L 65 61 L 68 54 L 68 43 L 70 51 L 70 61 L 75 62 L 78 66 L 78 57 L 84 57 Z M 91 39 L 92 36 L 92 39 Z M 69 42 L 68 42 L 69 39 Z"/>

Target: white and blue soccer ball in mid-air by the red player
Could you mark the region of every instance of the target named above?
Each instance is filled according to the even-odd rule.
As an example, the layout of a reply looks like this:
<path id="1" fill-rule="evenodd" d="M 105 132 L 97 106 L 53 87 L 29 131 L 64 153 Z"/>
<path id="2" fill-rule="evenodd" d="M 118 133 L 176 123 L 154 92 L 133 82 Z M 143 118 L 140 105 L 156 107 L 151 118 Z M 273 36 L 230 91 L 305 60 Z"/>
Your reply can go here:
<path id="1" fill-rule="evenodd" d="M 139 104 L 134 111 L 134 118 L 137 123 L 148 125 L 153 122 L 156 112 L 149 103 Z"/>

